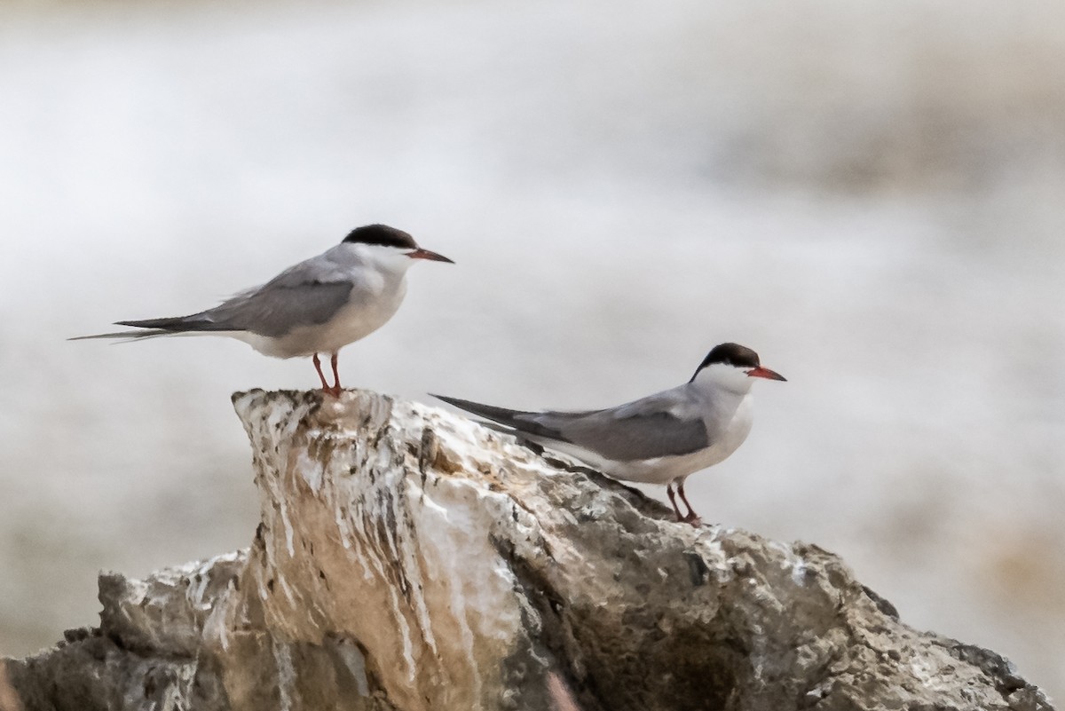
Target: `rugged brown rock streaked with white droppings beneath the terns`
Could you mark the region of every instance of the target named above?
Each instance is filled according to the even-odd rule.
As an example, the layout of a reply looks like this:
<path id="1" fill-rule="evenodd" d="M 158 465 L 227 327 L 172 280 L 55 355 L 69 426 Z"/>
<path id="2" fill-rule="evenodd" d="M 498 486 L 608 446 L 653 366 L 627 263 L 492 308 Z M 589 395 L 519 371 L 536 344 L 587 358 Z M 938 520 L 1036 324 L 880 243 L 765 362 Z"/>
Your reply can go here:
<path id="1" fill-rule="evenodd" d="M 26 711 L 1051 708 L 817 546 L 675 524 L 435 408 L 233 402 L 262 500 L 250 548 L 102 575 L 99 628 L 6 662 Z"/>

